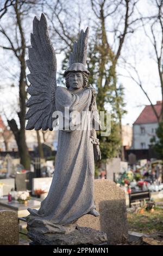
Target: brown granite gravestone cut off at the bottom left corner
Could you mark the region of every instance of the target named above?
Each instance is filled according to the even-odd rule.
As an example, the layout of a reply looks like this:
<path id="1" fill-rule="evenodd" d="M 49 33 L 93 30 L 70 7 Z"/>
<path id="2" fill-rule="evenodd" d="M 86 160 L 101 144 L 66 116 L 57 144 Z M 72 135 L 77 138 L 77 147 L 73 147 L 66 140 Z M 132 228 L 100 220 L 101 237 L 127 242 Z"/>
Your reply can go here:
<path id="1" fill-rule="evenodd" d="M 0 211 L 0 245 L 18 245 L 18 219 L 15 211 Z"/>

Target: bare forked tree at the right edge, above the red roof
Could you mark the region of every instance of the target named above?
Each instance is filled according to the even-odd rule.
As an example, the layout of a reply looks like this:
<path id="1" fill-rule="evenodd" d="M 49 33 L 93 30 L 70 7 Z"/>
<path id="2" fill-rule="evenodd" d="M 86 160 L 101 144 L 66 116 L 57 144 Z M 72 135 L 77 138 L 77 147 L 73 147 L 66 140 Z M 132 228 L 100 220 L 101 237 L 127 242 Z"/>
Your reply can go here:
<path id="1" fill-rule="evenodd" d="M 151 0 L 149 9 L 151 9 L 151 14 L 148 16 L 143 16 L 139 12 L 140 18 L 140 26 L 143 28 L 143 32 L 147 36 L 151 46 L 152 46 L 152 56 L 155 60 L 156 67 L 158 70 L 159 77 L 159 87 L 161 89 L 161 98 L 162 98 L 162 106 L 161 112 L 158 113 L 154 104 L 152 103 L 152 99 L 147 93 L 141 75 L 136 68 L 136 64 L 131 64 L 126 61 L 125 68 L 130 77 L 142 90 L 143 94 L 145 94 L 147 100 L 149 101 L 153 112 L 155 114 L 158 123 L 163 119 L 163 1 L 162 0 Z M 151 56 L 151 53 L 149 53 Z"/>

